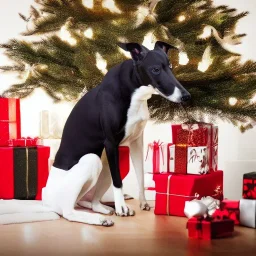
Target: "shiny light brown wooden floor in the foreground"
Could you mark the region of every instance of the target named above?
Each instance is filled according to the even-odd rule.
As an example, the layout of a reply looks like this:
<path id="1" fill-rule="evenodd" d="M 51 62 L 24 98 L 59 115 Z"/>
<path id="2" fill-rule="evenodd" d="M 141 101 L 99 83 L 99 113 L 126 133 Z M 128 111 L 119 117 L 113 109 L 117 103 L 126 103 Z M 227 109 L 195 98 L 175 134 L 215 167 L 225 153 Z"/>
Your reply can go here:
<path id="1" fill-rule="evenodd" d="M 128 204 L 136 216 L 112 216 L 110 228 L 64 219 L 0 226 L 0 255 L 256 255 L 255 229 L 236 227 L 232 238 L 191 240 L 186 218 L 142 212 L 135 200 Z"/>

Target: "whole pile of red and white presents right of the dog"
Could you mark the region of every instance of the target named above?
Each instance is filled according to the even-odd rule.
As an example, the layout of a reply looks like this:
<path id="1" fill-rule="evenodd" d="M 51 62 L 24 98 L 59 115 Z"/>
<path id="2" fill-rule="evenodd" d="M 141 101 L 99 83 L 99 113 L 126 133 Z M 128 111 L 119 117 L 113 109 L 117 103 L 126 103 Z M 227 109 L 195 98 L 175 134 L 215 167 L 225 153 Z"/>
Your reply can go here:
<path id="1" fill-rule="evenodd" d="M 188 236 L 197 239 L 231 236 L 234 225 L 255 228 L 256 172 L 244 174 L 243 199 L 224 199 L 218 127 L 186 123 L 171 129 L 172 143 L 154 141 L 145 156 L 145 189 L 155 192 L 155 214 L 187 216 Z"/>

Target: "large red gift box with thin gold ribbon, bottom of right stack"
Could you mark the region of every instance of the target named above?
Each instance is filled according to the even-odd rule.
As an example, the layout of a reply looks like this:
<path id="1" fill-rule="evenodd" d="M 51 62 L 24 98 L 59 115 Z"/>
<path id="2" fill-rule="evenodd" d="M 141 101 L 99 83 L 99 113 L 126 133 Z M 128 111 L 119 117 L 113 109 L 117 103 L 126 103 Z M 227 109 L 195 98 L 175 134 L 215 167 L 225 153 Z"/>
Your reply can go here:
<path id="1" fill-rule="evenodd" d="M 185 216 L 186 201 L 204 196 L 222 200 L 223 172 L 206 175 L 155 174 L 155 214 Z"/>

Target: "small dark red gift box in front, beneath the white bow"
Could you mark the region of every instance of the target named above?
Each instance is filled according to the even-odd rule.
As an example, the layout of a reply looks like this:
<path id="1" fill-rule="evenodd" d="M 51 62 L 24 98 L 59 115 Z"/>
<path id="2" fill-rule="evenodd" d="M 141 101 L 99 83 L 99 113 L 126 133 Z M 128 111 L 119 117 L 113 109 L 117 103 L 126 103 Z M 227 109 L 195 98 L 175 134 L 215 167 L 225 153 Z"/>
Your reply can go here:
<path id="1" fill-rule="evenodd" d="M 231 219 L 202 220 L 191 218 L 187 223 L 188 237 L 203 240 L 229 237 L 234 232 L 234 221 Z"/>

